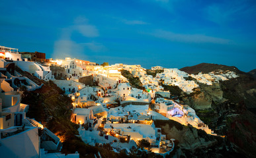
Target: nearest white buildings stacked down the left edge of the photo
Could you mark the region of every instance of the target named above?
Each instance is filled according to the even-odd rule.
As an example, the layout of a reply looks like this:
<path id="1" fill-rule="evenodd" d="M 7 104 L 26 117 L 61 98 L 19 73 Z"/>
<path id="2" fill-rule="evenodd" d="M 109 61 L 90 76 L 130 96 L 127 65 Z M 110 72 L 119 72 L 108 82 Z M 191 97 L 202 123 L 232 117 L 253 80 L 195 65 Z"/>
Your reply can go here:
<path id="1" fill-rule="evenodd" d="M 1 50 L 3 51 L 3 50 Z M 6 52 L 5 52 L 6 53 Z M 1 157 L 65 157 L 60 153 L 60 138 L 40 122 L 26 117 L 29 105 L 21 103 L 21 90 L 41 88 L 15 69 L 28 61 L 13 61 L 19 55 L 0 59 L 0 153 Z M 6 54 L 5 54 L 6 55 Z M 5 58 L 7 57 L 5 56 Z M 19 58 L 18 58 L 19 59 Z M 23 63 L 19 63 L 23 62 Z M 33 62 L 29 62 L 33 63 Z M 31 64 L 30 66 L 34 66 Z M 21 66 L 21 68 L 24 68 Z M 24 69 L 23 69 L 24 70 Z M 32 68 L 31 68 L 32 70 Z M 36 69 L 34 69 L 36 71 Z M 32 71 L 32 72 L 35 72 Z M 49 78 L 50 80 L 50 78 Z M 78 153 L 69 157 L 79 157 Z"/>

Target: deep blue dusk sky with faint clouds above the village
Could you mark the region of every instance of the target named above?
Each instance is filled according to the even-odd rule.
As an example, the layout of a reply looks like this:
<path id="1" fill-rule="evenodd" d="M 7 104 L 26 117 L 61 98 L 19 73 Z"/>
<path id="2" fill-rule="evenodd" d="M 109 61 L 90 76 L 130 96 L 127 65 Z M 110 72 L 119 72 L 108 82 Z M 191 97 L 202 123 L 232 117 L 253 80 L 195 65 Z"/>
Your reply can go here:
<path id="1" fill-rule="evenodd" d="M 0 1 L 0 45 L 96 63 L 256 68 L 255 1 Z"/>

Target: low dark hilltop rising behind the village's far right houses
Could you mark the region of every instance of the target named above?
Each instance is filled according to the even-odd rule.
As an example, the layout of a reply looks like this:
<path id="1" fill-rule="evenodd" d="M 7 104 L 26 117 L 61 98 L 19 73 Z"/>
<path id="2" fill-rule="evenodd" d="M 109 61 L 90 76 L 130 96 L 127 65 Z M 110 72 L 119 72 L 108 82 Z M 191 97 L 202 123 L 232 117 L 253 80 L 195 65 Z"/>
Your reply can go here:
<path id="1" fill-rule="evenodd" d="M 198 72 L 208 73 L 214 70 L 230 70 L 230 71 L 236 72 L 237 74 L 245 73 L 238 70 L 238 68 L 236 68 L 235 66 L 217 65 L 217 64 L 209 64 L 209 63 L 200 63 L 194 66 L 186 66 L 184 68 L 181 68 L 180 70 L 185 71 L 189 74 L 196 74 Z"/>

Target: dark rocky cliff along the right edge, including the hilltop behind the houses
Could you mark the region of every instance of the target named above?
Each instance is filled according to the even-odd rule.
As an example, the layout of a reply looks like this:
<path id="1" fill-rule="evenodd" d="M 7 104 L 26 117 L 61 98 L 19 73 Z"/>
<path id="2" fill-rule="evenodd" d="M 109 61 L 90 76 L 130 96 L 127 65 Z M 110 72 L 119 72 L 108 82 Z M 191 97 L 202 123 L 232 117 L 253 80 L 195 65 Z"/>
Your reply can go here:
<path id="1" fill-rule="evenodd" d="M 198 117 L 214 132 L 227 136 L 243 157 L 255 157 L 256 80 L 252 74 L 241 72 L 234 66 L 206 63 L 181 70 L 192 73 L 232 70 L 239 75 L 212 86 L 199 84 L 200 88 L 191 94 L 181 93 L 179 97 L 193 107 Z"/>

